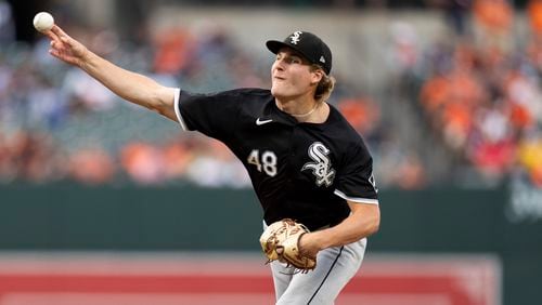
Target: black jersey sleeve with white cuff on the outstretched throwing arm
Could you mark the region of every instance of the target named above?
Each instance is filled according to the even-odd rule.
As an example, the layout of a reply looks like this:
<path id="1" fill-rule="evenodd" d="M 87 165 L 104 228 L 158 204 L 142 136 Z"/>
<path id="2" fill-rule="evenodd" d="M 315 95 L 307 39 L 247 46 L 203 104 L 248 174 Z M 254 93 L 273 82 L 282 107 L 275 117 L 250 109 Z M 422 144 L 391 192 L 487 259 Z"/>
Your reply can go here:
<path id="1" fill-rule="evenodd" d="M 181 128 L 218 140 L 228 138 L 233 133 L 238 105 L 235 91 L 194 94 L 178 90 L 175 96 L 175 111 Z"/>

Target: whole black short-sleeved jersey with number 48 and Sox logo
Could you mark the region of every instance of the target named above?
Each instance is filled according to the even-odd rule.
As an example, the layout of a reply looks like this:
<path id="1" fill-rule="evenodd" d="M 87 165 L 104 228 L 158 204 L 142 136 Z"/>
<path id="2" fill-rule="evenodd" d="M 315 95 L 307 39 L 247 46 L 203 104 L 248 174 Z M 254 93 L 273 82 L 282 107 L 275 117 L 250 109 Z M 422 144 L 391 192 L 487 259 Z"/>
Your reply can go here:
<path id="1" fill-rule="evenodd" d="M 221 141 L 243 162 L 267 224 L 289 217 L 315 229 L 346 218 L 346 200 L 378 204 L 371 155 L 331 105 L 323 123 L 298 122 L 263 89 L 181 91 L 175 107 L 184 130 Z"/>

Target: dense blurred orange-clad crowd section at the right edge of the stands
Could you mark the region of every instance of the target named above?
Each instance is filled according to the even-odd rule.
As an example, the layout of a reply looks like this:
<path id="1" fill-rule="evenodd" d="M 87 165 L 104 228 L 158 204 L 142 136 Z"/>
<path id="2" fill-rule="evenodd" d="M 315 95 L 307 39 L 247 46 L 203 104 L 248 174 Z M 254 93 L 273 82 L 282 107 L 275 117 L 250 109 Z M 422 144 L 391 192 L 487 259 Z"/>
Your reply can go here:
<path id="1" fill-rule="evenodd" d="M 505 0 L 476 0 L 472 27 L 424 54 L 418 101 L 431 130 L 485 177 L 542 187 L 542 1 L 518 39 Z"/>

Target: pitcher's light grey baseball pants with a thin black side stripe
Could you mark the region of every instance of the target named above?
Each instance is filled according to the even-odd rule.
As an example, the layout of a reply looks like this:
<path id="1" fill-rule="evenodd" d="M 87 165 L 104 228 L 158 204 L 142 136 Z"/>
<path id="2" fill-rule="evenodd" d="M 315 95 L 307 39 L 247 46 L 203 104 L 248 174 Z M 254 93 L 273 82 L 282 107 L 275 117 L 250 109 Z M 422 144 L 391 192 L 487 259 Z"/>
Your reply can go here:
<path id="1" fill-rule="evenodd" d="M 276 304 L 330 305 L 348 281 L 358 273 L 365 254 L 366 238 L 318 253 L 317 268 L 294 274 L 292 267 L 271 263 Z"/>

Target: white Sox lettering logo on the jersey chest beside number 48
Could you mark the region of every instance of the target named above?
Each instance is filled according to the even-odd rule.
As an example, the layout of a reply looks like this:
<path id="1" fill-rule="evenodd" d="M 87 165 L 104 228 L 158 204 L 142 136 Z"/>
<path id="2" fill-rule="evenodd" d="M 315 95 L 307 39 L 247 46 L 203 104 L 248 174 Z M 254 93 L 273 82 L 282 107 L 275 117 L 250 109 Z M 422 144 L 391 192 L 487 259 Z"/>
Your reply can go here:
<path id="1" fill-rule="evenodd" d="M 335 170 L 332 169 L 332 162 L 327 155 L 330 154 L 330 149 L 325 147 L 320 142 L 314 142 L 309 147 L 309 157 L 314 162 L 307 162 L 302 167 L 301 171 L 311 170 L 312 174 L 317 176 L 317 185 L 330 186 L 333 183 L 333 178 L 335 177 Z"/>

